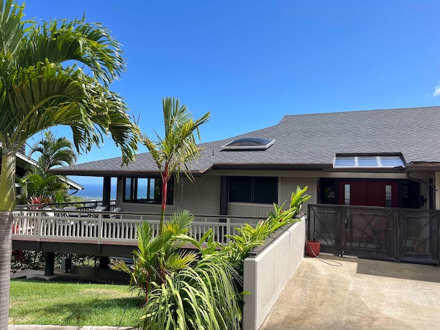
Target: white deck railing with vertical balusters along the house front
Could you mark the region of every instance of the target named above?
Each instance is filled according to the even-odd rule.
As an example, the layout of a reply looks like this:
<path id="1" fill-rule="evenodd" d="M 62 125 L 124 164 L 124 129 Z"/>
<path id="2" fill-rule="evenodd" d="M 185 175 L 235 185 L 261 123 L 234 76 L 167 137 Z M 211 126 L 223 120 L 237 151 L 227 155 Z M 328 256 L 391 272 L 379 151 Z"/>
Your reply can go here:
<path id="1" fill-rule="evenodd" d="M 136 245 L 137 225 L 146 221 L 157 234 L 159 217 L 159 214 L 131 212 L 17 210 L 14 212 L 12 237 L 23 241 Z M 212 228 L 215 241 L 228 243 L 225 235 L 236 234 L 234 228 L 244 223 L 256 225 L 262 219 L 265 218 L 195 215 L 191 234 L 199 239 Z"/>

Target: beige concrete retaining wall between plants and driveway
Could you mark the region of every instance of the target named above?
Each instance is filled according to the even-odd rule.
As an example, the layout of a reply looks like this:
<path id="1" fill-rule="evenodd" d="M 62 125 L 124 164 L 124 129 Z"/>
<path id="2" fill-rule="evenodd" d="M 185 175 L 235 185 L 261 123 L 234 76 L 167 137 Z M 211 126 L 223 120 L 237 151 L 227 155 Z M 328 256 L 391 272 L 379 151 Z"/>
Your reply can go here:
<path id="1" fill-rule="evenodd" d="M 305 219 L 266 241 L 261 252 L 244 261 L 243 330 L 258 330 L 270 313 L 287 281 L 303 260 Z"/>

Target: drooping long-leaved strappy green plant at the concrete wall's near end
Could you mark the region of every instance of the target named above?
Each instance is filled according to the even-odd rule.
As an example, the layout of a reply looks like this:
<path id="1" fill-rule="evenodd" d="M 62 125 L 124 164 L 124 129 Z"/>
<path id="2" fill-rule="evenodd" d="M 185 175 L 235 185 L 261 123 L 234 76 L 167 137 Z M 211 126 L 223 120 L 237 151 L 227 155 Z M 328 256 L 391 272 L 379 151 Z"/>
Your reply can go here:
<path id="1" fill-rule="evenodd" d="M 219 254 L 207 254 L 192 268 L 154 284 L 144 308 L 148 330 L 239 330 L 241 281 L 233 265 Z"/>

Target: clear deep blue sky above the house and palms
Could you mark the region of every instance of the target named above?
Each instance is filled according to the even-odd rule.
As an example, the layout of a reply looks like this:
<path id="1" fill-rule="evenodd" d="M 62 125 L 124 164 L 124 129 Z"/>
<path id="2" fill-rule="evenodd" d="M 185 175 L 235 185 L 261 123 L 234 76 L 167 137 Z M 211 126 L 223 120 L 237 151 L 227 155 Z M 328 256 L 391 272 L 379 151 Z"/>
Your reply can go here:
<path id="1" fill-rule="evenodd" d="M 173 96 L 195 118 L 210 111 L 201 142 L 287 114 L 438 105 L 439 12 L 438 0 L 25 3 L 29 19 L 85 14 L 109 28 L 127 63 L 111 89 L 142 131 L 162 132 L 162 98 Z M 106 140 L 78 162 L 119 156 Z"/>

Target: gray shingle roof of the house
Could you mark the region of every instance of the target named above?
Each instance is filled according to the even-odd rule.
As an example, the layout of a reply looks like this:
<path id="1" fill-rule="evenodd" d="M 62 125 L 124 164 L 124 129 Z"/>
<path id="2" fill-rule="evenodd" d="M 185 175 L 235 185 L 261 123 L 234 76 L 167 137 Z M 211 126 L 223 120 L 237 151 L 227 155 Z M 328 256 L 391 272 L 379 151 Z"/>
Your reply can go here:
<path id="1" fill-rule="evenodd" d="M 265 151 L 221 150 L 238 137 L 276 141 Z M 285 115 L 274 126 L 200 146 L 204 148 L 201 157 L 192 164 L 199 172 L 216 166 L 331 166 L 336 153 L 402 153 L 407 163 L 440 162 L 440 107 Z M 148 153 L 137 155 L 129 166 L 121 168 L 121 163 L 121 157 L 104 159 L 60 168 L 59 172 L 148 175 L 157 171 Z"/>

